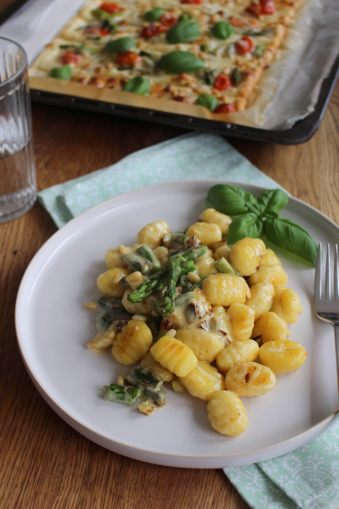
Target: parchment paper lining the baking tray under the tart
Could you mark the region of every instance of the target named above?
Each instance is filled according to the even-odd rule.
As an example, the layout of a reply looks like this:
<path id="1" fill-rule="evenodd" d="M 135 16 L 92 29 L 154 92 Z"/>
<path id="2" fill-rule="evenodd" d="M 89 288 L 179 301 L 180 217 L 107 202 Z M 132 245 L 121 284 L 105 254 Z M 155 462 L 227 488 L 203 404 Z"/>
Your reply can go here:
<path id="1" fill-rule="evenodd" d="M 212 115 L 202 107 L 180 103 L 180 112 L 200 118 L 260 126 L 263 129 L 288 129 L 297 120 L 309 115 L 317 103 L 322 81 L 329 74 L 339 54 L 339 0 L 301 2 L 298 16 L 289 27 L 275 61 L 264 72 L 253 93 L 253 106 L 225 117 Z M 84 0 L 30 0 L 0 27 L 0 36 L 22 44 L 27 52 L 28 62 L 32 64 L 44 45 L 51 42 L 83 3 Z M 34 87 L 39 88 L 39 80 L 43 90 L 55 92 L 52 90 L 55 80 L 35 77 L 32 80 Z M 96 99 L 107 101 L 108 91 L 102 89 L 89 91 L 88 89 L 94 87 L 77 86 L 70 87 L 70 91 L 80 91 L 80 87 L 87 89 L 82 90 L 80 96 L 91 98 L 94 95 Z M 67 93 L 66 87 L 62 88 L 64 93 Z M 112 95 L 112 92 L 110 94 Z M 121 96 L 121 93 L 115 94 Z M 125 94 L 122 94 L 117 102 L 123 103 Z M 128 96 L 130 97 L 126 102 L 133 105 L 135 94 Z M 127 95 L 125 97 L 127 99 Z M 111 97 L 109 102 L 114 102 L 114 98 Z M 136 105 L 140 107 L 140 101 L 137 102 Z M 173 101 L 153 99 L 147 101 L 147 107 L 173 111 Z"/>

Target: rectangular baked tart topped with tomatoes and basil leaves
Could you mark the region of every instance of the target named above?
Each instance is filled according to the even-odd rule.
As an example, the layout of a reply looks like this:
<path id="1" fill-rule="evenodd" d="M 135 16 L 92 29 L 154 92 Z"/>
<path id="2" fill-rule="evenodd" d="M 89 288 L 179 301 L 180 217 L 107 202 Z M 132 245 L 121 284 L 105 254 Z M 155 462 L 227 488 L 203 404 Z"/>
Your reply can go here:
<path id="1" fill-rule="evenodd" d="M 30 75 L 228 114 L 246 108 L 295 14 L 294 0 L 89 0 Z"/>

